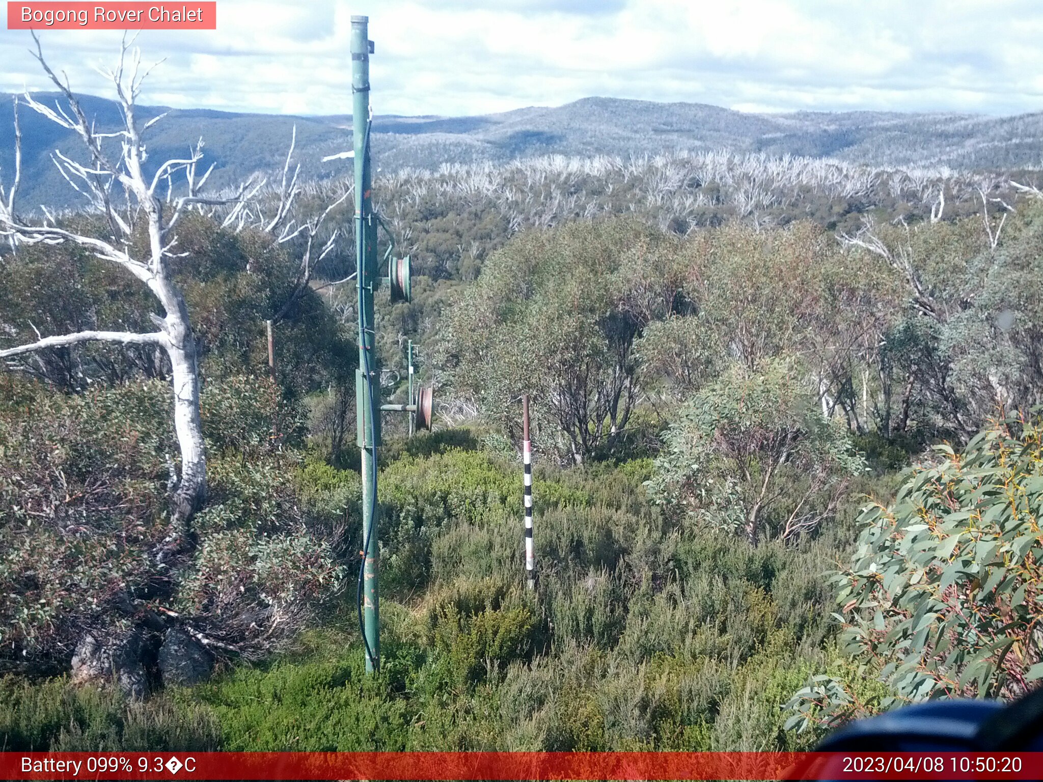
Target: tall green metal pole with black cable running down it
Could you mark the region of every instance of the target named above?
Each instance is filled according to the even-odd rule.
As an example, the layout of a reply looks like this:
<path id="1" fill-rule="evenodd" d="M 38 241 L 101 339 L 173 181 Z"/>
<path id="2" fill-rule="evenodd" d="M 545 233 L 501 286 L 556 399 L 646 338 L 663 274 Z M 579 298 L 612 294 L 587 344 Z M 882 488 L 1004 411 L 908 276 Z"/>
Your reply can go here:
<path id="1" fill-rule="evenodd" d="M 355 137 L 355 238 L 359 294 L 359 369 L 356 374 L 358 443 L 362 449 L 363 637 L 366 670 L 380 667 L 378 590 L 377 446 L 380 444 L 380 368 L 377 366 L 373 290 L 377 274 L 377 225 L 370 203 L 369 171 L 369 18 L 351 17 L 351 132 Z"/>

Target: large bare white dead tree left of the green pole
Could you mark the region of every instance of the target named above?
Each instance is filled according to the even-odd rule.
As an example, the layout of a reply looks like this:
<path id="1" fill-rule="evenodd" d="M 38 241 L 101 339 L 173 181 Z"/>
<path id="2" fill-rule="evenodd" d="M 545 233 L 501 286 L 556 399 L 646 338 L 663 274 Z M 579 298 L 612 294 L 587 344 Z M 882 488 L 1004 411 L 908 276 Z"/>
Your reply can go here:
<path id="1" fill-rule="evenodd" d="M 155 331 L 145 334 L 132 332 L 78 332 L 60 336 L 43 337 L 37 342 L 0 350 L 0 359 L 9 359 L 49 347 L 75 345 L 101 341 L 125 345 L 154 345 L 162 348 L 170 360 L 174 394 L 174 431 L 180 448 L 180 475 L 171 499 L 171 518 L 168 534 L 155 552 L 164 561 L 183 551 L 189 541 L 190 522 L 207 496 L 207 457 L 202 429 L 199 420 L 199 373 L 196 343 L 189 321 L 185 296 L 174 283 L 169 260 L 176 258 L 177 238 L 173 227 L 190 209 L 203 209 L 220 204 L 238 205 L 251 197 L 263 185 L 256 177 L 243 184 L 238 192 L 225 197 L 208 196 L 203 187 L 214 167 L 201 176 L 198 166 L 202 158 L 202 142 L 198 142 L 183 158 L 169 160 L 148 176 L 144 164 L 147 148 L 143 133 L 163 118 L 163 115 L 140 123 L 135 113 L 142 82 L 148 72 L 140 73 L 140 51 L 128 48 L 126 40 L 120 50 L 115 70 L 102 73 L 115 89 L 123 113 L 123 127 L 113 131 L 98 130 L 73 94 L 69 79 L 58 76 L 44 58 L 40 39 L 33 33 L 35 51 L 44 72 L 58 89 L 67 106 L 58 101 L 53 107 L 25 94 L 25 104 L 67 130 L 73 131 L 87 147 L 89 163 L 78 163 L 60 150 L 52 154 L 54 165 L 69 185 L 89 201 L 90 207 L 105 221 L 107 236 L 86 236 L 68 230 L 45 211 L 43 220 L 23 218 L 17 212 L 16 194 L 20 169 L 16 166 L 15 179 L 4 192 L 0 186 L 0 235 L 18 244 L 63 244 L 84 247 L 97 258 L 107 261 L 134 275 L 151 291 L 162 308 L 162 315 L 150 315 Z M 129 53 L 129 62 L 128 62 Z M 18 116 L 15 119 L 16 161 L 21 156 L 21 132 Z M 118 150 L 118 152 L 117 152 Z M 185 174 L 181 195 L 173 196 L 169 185 L 175 174 Z M 168 196 L 161 199 L 156 189 L 167 182 Z M 114 198 L 114 195 L 116 196 Z M 137 253 L 134 240 L 147 236 L 147 250 Z"/>

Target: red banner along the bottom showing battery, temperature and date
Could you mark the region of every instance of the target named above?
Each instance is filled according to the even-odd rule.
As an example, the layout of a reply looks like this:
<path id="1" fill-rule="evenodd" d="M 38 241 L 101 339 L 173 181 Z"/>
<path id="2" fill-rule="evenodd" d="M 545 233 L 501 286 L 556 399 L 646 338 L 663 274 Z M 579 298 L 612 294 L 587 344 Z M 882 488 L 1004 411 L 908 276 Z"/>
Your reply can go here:
<path id="1" fill-rule="evenodd" d="M 1043 753 L 0 753 L 25 780 L 1039 780 Z"/>

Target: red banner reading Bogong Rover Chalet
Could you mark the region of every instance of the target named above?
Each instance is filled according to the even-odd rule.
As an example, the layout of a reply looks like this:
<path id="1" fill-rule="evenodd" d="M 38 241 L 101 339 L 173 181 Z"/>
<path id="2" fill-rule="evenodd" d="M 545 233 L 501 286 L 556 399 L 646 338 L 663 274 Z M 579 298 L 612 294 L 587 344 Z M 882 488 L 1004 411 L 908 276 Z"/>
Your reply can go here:
<path id="1" fill-rule="evenodd" d="M 8 30 L 216 30 L 216 2 L 8 2 Z"/>

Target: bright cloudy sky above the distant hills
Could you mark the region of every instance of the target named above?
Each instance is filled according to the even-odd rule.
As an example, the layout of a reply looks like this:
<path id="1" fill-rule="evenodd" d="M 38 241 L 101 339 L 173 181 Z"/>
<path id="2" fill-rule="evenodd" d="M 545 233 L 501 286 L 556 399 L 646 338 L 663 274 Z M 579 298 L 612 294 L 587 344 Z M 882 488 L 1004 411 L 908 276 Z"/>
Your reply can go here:
<path id="1" fill-rule="evenodd" d="M 191 3 L 188 3 L 191 5 Z M 180 5 L 180 3 L 178 3 Z M 348 30 L 369 17 L 377 114 L 463 116 L 589 96 L 747 112 L 1043 111 L 1039 0 L 218 0 L 215 31 L 146 31 L 140 102 L 350 113 Z M 111 95 L 120 33 L 51 30 L 74 90 Z M 0 92 L 46 87 L 0 28 Z"/>

